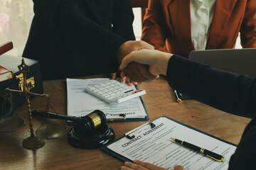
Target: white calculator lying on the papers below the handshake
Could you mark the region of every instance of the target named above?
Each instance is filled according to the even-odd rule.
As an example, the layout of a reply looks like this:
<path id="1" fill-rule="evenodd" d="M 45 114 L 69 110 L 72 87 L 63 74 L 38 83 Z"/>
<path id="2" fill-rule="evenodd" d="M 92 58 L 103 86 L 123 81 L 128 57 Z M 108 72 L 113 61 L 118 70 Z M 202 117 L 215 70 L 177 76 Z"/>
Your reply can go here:
<path id="1" fill-rule="evenodd" d="M 134 89 L 132 86 L 122 84 L 114 79 L 107 80 L 94 86 L 87 86 L 85 90 L 89 94 L 92 94 L 107 103 L 121 103 L 131 98 L 146 94 L 146 91 L 144 90 Z"/>

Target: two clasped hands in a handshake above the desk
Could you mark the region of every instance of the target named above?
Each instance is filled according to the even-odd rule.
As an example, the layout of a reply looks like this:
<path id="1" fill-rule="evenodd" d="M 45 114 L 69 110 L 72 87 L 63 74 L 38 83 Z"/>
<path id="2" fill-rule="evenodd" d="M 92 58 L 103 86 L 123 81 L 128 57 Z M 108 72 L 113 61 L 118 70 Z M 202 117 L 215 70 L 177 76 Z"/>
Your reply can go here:
<path id="1" fill-rule="evenodd" d="M 159 78 L 159 74 L 166 75 L 172 55 L 154 50 L 152 45 L 144 41 L 127 41 L 119 47 L 116 56 L 120 63 L 121 82 L 127 81 L 131 86 L 142 81 L 154 81 Z M 112 75 L 114 78 L 115 74 Z"/>

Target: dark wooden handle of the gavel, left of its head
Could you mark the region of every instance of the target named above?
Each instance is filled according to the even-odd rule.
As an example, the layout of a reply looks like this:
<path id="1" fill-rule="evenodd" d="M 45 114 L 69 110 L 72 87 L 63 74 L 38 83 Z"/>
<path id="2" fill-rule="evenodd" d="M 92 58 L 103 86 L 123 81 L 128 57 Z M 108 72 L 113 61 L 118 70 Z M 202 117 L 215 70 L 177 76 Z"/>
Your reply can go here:
<path id="1" fill-rule="evenodd" d="M 48 111 L 36 111 L 36 110 L 34 110 L 31 113 L 32 113 L 32 115 L 38 115 L 38 116 L 41 116 L 43 118 L 71 120 L 71 121 L 74 121 L 74 122 L 77 122 L 78 120 L 82 120 L 80 117 L 70 116 L 70 115 L 62 115 L 62 114 L 52 113 L 52 112 L 48 112 Z"/>

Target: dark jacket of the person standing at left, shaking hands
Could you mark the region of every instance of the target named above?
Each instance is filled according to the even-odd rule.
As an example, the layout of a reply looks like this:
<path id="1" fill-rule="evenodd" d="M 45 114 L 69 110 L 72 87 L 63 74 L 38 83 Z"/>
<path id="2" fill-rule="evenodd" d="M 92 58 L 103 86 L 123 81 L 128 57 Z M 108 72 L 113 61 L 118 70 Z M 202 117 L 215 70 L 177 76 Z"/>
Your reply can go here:
<path id="1" fill-rule="evenodd" d="M 39 60 L 43 79 L 117 71 L 115 52 L 134 40 L 130 0 L 33 0 L 23 57 Z"/>

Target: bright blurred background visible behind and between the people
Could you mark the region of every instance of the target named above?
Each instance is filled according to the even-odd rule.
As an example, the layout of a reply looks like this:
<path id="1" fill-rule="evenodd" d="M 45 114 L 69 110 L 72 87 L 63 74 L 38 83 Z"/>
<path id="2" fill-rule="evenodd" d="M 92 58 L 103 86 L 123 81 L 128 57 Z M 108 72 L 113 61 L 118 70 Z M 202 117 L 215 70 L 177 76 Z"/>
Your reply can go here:
<path id="1" fill-rule="evenodd" d="M 134 11 L 134 33 L 137 40 L 142 35 L 142 16 L 140 8 Z M 9 55 L 22 57 L 22 52 L 28 38 L 31 21 L 33 18 L 32 0 L 0 0 L 0 45 L 7 41 L 14 43 L 14 49 Z M 236 48 L 241 48 L 240 38 Z"/>

